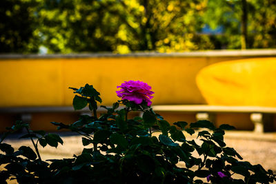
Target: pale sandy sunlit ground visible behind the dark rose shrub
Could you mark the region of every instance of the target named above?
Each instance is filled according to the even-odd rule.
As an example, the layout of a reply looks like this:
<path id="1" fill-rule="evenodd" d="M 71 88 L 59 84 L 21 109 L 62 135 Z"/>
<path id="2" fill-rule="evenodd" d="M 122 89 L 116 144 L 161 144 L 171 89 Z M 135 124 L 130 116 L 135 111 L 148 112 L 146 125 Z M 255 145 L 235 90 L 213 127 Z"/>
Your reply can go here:
<path id="1" fill-rule="evenodd" d="M 55 147 L 39 147 L 41 158 L 62 159 L 72 158 L 73 154 L 80 154 L 83 145 L 81 136 L 72 134 L 61 134 L 63 145 Z M 187 138 L 190 139 L 190 138 Z M 21 145 L 32 147 L 28 139 L 16 139 L 15 136 L 6 139 L 5 143 L 11 144 L 14 149 Z M 276 172 L 276 133 L 254 134 L 253 132 L 226 132 L 225 142 L 228 147 L 233 147 L 244 158 L 252 164 L 261 164 L 266 170 Z"/>

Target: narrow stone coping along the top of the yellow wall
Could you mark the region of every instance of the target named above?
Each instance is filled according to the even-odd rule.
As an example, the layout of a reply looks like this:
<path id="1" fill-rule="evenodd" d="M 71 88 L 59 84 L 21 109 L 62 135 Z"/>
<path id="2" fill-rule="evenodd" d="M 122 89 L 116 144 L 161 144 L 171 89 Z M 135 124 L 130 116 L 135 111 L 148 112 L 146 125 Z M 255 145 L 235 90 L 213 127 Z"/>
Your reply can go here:
<path id="1" fill-rule="evenodd" d="M 103 57 L 275 57 L 276 50 L 208 50 L 193 52 L 133 52 L 130 54 L 83 53 L 83 54 L 0 54 L 0 59 L 76 59 Z"/>

